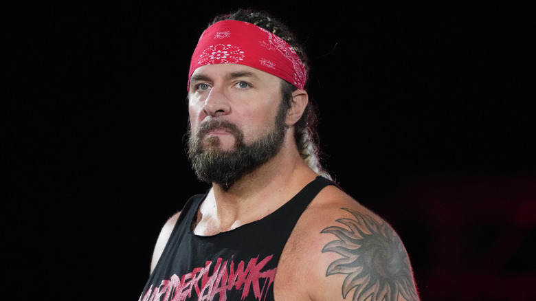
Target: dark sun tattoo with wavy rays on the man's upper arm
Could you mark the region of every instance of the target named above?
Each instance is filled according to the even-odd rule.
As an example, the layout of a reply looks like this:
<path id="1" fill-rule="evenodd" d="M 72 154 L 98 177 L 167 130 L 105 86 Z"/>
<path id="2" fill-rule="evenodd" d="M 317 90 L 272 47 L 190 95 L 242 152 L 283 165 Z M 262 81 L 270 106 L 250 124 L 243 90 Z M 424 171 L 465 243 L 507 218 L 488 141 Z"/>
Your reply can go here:
<path id="1" fill-rule="evenodd" d="M 402 242 L 385 222 L 371 216 L 342 208 L 355 219 L 337 219 L 346 227 L 326 227 L 321 233 L 337 238 L 324 246 L 322 253 L 335 252 L 339 258 L 326 271 L 326 277 L 346 274 L 342 297 L 355 289 L 353 301 L 394 301 L 401 295 L 405 300 L 418 300 L 410 260 Z"/>

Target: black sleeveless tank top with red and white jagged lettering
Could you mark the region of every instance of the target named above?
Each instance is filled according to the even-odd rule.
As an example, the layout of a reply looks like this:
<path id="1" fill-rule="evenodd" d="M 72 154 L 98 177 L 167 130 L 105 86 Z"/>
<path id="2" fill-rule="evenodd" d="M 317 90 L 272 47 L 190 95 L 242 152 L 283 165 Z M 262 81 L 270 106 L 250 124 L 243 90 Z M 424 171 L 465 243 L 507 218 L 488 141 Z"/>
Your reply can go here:
<path id="1" fill-rule="evenodd" d="M 283 247 L 307 205 L 330 184 L 317 177 L 263 219 L 214 236 L 192 233 L 207 194 L 191 197 L 139 301 L 273 300 Z"/>

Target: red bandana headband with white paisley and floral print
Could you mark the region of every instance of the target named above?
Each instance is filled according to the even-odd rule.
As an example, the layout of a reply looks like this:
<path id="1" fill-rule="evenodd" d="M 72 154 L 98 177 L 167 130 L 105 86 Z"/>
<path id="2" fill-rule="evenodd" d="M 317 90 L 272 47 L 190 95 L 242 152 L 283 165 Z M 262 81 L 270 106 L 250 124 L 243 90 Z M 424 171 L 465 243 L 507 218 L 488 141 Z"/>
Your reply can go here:
<path id="1" fill-rule="evenodd" d="M 252 23 L 225 20 L 208 27 L 190 62 L 188 89 L 194 71 L 204 65 L 239 64 L 254 67 L 303 89 L 305 67 L 282 38 Z"/>

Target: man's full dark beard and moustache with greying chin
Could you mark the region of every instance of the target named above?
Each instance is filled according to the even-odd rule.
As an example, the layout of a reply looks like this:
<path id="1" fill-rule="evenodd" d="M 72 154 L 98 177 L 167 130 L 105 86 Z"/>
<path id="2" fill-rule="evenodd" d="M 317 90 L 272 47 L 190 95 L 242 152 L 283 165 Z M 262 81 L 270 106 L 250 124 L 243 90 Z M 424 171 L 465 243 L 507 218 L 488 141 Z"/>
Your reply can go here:
<path id="1" fill-rule="evenodd" d="M 241 177 L 265 164 L 281 150 L 288 127 L 286 115 L 287 108 L 280 104 L 274 129 L 249 145 L 245 144 L 242 131 L 231 122 L 210 120 L 201 124 L 196 135 L 188 129 L 188 159 L 197 177 L 228 189 Z M 203 137 L 214 129 L 225 129 L 234 135 L 234 149 L 222 150 L 218 137 L 205 139 L 203 146 Z"/>

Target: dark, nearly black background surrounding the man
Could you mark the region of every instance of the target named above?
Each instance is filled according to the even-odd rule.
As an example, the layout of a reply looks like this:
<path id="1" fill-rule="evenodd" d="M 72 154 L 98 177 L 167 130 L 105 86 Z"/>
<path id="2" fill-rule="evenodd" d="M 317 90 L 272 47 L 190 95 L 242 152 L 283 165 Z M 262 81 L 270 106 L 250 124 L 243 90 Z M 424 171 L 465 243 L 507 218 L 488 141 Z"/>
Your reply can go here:
<path id="1" fill-rule="evenodd" d="M 534 300 L 528 1 L 431 2 L 8 1 L 3 293 L 139 298 L 161 225 L 206 188 L 184 155 L 190 54 L 251 6 L 309 50 L 326 168 L 399 232 L 423 300 Z"/>

